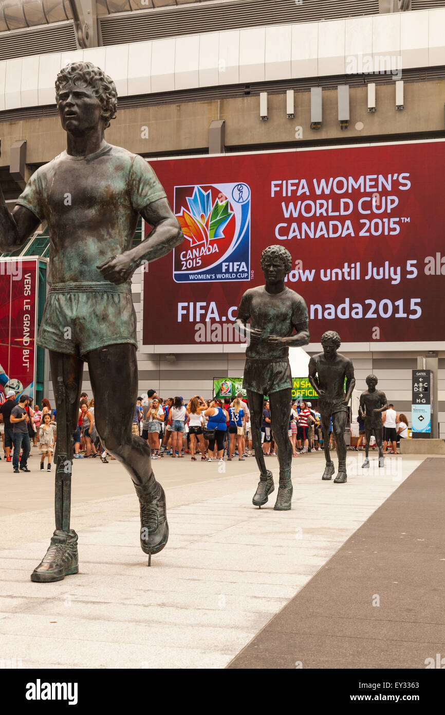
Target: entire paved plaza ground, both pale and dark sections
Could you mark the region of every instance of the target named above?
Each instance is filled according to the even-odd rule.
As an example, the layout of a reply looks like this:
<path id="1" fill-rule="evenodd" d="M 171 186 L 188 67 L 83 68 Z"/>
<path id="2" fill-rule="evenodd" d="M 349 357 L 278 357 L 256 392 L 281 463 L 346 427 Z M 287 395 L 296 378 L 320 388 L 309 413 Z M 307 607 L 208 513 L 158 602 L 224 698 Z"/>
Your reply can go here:
<path id="1" fill-rule="evenodd" d="M 54 530 L 54 471 L 40 473 L 33 452 L 30 474 L 0 463 L 3 659 L 26 669 L 422 668 L 445 652 L 444 459 L 398 455 L 379 470 L 371 452 L 363 473 L 363 455 L 349 452 L 348 482 L 336 485 L 321 481 L 322 455 L 301 455 L 292 510 L 276 512 L 276 491 L 261 510 L 251 504 L 254 458 L 221 468 L 165 457 L 154 470 L 170 538 L 151 568 L 129 475 L 117 461 L 79 460 L 79 574 L 31 583 Z M 269 465 L 277 488 L 276 458 Z"/>

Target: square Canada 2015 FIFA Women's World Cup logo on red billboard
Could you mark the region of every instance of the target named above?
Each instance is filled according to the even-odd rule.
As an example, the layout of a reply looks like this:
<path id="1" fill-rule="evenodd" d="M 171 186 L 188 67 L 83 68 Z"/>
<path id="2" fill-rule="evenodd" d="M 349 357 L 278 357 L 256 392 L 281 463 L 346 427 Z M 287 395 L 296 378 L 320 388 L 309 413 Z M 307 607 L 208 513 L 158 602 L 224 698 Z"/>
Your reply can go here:
<path id="1" fill-rule="evenodd" d="M 249 280 L 250 199 L 243 182 L 175 187 L 184 233 L 174 250 L 176 282 Z"/>

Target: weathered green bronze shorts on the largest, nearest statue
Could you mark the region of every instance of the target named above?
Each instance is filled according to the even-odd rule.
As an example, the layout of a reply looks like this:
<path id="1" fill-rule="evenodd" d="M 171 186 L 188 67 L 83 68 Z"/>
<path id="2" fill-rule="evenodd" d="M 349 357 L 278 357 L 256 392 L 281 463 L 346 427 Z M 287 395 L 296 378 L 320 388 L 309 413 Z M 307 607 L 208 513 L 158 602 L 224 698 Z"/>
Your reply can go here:
<path id="1" fill-rule="evenodd" d="M 84 359 L 90 350 L 128 342 L 138 347 L 131 284 L 54 283 L 37 343 Z"/>

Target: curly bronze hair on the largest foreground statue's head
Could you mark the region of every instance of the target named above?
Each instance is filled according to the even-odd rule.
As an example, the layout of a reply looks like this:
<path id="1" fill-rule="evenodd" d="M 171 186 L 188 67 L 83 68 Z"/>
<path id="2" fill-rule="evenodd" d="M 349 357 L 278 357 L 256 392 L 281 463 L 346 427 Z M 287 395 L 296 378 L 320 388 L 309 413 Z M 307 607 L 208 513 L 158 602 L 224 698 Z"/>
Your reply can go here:
<path id="1" fill-rule="evenodd" d="M 70 62 L 56 77 L 56 104 L 59 107 L 59 94 L 67 84 L 77 84 L 79 87 L 89 87 L 94 97 L 99 99 L 105 129 L 110 126 L 111 119 L 116 117 L 117 92 L 111 77 L 92 62 Z"/>

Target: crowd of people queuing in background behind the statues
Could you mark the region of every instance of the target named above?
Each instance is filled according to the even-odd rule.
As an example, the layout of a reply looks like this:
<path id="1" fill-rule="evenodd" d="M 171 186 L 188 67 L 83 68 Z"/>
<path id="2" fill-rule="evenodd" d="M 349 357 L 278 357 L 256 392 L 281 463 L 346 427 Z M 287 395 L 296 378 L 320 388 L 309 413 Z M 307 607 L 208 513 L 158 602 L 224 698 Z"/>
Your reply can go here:
<path id="1" fill-rule="evenodd" d="M 6 394 L 0 405 L 0 434 L 3 440 L 4 458 L 13 463 L 14 472 L 19 469 L 29 472 L 28 458 L 31 442 L 39 448 L 40 469 L 51 470 L 51 460 L 56 444 L 56 410 L 51 409 L 49 400 L 44 398 L 39 405 L 33 405 L 29 395 L 20 395 L 16 400 L 13 390 Z M 394 405 L 383 414 L 384 453 L 389 449 L 395 454 L 400 439 L 408 437 L 406 415 L 396 413 Z M 364 423 L 359 422 L 359 439 L 354 449 L 365 448 Z M 148 390 L 137 399 L 132 432 L 141 436 L 151 448 L 151 458 L 160 459 L 166 455 L 184 458 L 190 455 L 192 461 L 244 461 L 252 456 L 251 416 L 247 400 L 241 393 L 236 398 L 204 400 L 194 395 L 186 403 L 182 397 L 163 399 Z M 294 457 L 319 452 L 324 448 L 320 413 L 310 402 L 294 400 L 289 420 L 289 440 Z M 373 437 L 370 445 L 373 446 Z M 79 419 L 73 433 L 74 458 L 88 459 L 99 456 L 108 463 L 104 445 L 101 445 L 94 423 L 94 398 L 81 394 Z M 11 449 L 14 453 L 11 456 Z M 261 424 L 261 448 L 264 455 L 276 456 L 276 443 L 271 430 L 269 401 L 264 401 Z M 335 448 L 332 420 L 329 429 L 329 448 Z M 111 459 L 114 459 L 111 456 Z"/>

